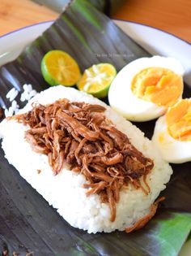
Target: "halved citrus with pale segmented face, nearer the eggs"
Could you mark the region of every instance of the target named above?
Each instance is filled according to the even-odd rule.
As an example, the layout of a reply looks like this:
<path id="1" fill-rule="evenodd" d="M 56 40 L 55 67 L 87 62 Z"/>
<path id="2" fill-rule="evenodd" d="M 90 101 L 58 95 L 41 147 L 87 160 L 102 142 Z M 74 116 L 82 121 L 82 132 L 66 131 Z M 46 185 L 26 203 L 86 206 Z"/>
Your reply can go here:
<path id="1" fill-rule="evenodd" d="M 77 86 L 97 98 L 104 98 L 108 95 L 109 86 L 116 74 L 116 68 L 112 64 L 96 64 L 85 70 Z"/>

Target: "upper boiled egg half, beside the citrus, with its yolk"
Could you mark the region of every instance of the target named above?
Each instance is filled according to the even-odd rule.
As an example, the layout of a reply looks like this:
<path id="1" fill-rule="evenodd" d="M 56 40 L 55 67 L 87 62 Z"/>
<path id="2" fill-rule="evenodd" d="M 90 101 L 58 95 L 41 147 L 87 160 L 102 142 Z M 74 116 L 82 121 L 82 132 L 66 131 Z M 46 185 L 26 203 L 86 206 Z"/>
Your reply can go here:
<path id="1" fill-rule="evenodd" d="M 163 115 L 181 98 L 184 69 L 173 58 L 136 59 L 121 69 L 108 91 L 110 106 L 132 121 Z"/>

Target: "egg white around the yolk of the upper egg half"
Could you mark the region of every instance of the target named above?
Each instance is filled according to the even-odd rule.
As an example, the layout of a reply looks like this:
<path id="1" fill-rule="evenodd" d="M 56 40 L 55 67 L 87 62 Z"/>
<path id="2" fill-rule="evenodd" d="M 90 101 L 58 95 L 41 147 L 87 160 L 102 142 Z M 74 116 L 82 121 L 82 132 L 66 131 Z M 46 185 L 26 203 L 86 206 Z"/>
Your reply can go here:
<path id="1" fill-rule="evenodd" d="M 148 121 L 163 115 L 166 111 L 165 106 L 158 106 L 138 98 L 131 90 L 134 76 L 148 67 L 163 67 L 180 76 L 184 74 L 184 69 L 178 60 L 160 56 L 136 59 L 123 67 L 110 85 L 108 101 L 113 109 L 131 121 Z"/>

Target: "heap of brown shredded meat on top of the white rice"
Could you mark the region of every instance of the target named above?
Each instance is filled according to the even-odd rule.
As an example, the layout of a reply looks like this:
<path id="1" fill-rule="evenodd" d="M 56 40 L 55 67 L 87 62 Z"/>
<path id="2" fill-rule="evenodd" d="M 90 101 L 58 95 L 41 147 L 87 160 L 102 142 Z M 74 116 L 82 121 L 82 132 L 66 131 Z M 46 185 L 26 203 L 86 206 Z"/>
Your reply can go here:
<path id="1" fill-rule="evenodd" d="M 32 150 L 48 155 L 53 173 L 57 175 L 65 164 L 82 173 L 88 181 L 87 196 L 99 194 L 109 204 L 114 221 L 122 187 L 133 184 L 150 192 L 146 175 L 153 161 L 115 128 L 104 111 L 104 106 L 62 99 L 47 106 L 34 104 L 32 111 L 16 119 L 29 125 L 26 140 Z"/>

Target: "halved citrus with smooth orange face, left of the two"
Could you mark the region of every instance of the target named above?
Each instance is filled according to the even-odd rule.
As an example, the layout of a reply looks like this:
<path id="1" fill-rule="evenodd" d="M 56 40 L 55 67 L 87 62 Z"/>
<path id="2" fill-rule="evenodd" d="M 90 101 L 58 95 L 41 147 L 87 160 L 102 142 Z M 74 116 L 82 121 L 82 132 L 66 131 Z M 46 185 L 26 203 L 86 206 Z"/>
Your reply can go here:
<path id="1" fill-rule="evenodd" d="M 41 72 L 49 85 L 72 86 L 81 76 L 78 63 L 62 50 L 50 50 L 45 54 Z"/>

